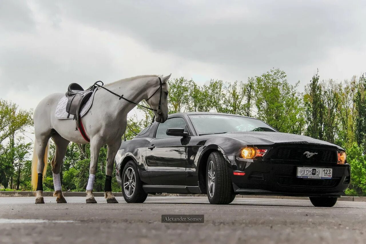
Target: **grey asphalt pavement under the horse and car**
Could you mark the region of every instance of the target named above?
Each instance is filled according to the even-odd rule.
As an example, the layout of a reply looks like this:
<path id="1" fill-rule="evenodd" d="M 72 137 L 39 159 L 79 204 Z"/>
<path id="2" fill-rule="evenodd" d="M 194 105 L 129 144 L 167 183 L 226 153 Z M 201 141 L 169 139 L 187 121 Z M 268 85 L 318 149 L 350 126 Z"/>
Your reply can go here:
<path id="1" fill-rule="evenodd" d="M 66 197 L 0 197 L 0 243 L 366 243 L 366 202 L 313 207 L 308 200 L 148 197 L 143 204 L 86 204 Z M 161 223 L 162 214 L 204 214 L 205 223 Z"/>

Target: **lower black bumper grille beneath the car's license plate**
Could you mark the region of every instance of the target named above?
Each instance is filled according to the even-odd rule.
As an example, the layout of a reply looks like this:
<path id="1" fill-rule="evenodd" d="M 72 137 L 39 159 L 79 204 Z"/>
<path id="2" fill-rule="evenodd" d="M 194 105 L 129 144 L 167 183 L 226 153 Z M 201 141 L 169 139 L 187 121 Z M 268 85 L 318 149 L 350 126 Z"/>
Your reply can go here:
<path id="1" fill-rule="evenodd" d="M 311 187 L 334 187 L 339 179 L 302 179 L 295 177 L 278 177 L 277 183 L 282 186 L 311 186 Z"/>

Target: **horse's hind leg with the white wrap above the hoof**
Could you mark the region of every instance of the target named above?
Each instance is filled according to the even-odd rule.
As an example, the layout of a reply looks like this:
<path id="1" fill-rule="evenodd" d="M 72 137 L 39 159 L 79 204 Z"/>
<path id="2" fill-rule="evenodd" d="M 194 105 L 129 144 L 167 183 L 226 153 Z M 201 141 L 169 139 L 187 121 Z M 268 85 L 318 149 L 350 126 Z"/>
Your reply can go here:
<path id="1" fill-rule="evenodd" d="M 55 142 L 56 145 L 55 155 L 53 155 L 51 161 L 52 174 L 53 174 L 53 187 L 55 188 L 53 196 L 57 197 L 56 198 L 57 203 L 66 203 L 66 199 L 63 196 L 61 189 L 60 169 L 63 158 L 66 154 L 67 145 L 70 143 L 70 141 L 61 137 L 59 134 L 53 134 L 52 140 Z"/>

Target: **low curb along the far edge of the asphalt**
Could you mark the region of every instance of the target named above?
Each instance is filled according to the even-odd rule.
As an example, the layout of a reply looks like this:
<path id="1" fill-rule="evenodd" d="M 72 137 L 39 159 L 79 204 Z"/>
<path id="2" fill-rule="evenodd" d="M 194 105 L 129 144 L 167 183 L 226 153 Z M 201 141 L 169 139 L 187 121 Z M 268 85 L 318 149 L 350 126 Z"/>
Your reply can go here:
<path id="1" fill-rule="evenodd" d="M 85 197 L 85 192 L 63 192 L 66 197 Z M 52 196 L 53 192 L 43 192 L 44 196 Z M 93 195 L 96 197 L 103 197 L 104 192 L 93 192 Z M 113 192 L 114 196 L 122 197 L 122 192 Z M 0 197 L 34 197 L 36 196 L 36 192 L 16 192 L 16 191 L 0 191 Z M 162 193 L 148 196 L 206 196 L 206 194 L 169 194 Z M 261 196 L 261 195 L 236 195 L 238 198 L 261 198 L 261 199 L 297 199 L 297 200 L 309 200 L 309 197 L 291 197 L 291 196 Z M 339 201 L 348 201 L 348 202 L 366 202 L 366 197 L 358 197 L 358 196 L 341 196 Z"/>

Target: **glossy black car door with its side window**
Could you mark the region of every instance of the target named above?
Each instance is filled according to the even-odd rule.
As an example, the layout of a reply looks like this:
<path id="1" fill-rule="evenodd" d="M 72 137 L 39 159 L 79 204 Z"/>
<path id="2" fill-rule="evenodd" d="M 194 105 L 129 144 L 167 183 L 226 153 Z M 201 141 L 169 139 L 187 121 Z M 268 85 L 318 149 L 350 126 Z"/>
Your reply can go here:
<path id="1" fill-rule="evenodd" d="M 147 171 L 154 185 L 186 184 L 187 148 L 184 138 L 166 134 L 167 129 L 176 127 L 186 129 L 186 121 L 173 117 L 159 123 L 146 148 Z"/>

